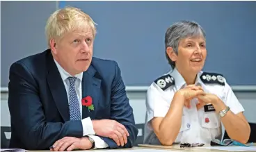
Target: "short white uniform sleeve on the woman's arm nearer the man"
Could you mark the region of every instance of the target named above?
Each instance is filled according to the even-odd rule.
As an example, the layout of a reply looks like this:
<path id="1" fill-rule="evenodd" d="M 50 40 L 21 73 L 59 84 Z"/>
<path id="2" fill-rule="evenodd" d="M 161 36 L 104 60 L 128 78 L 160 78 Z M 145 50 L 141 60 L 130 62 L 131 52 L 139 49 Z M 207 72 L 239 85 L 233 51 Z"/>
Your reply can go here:
<path id="1" fill-rule="evenodd" d="M 146 107 L 148 123 L 154 117 L 165 117 L 170 107 L 170 101 L 164 99 L 163 93 L 158 86 L 153 83 L 147 90 Z"/>

